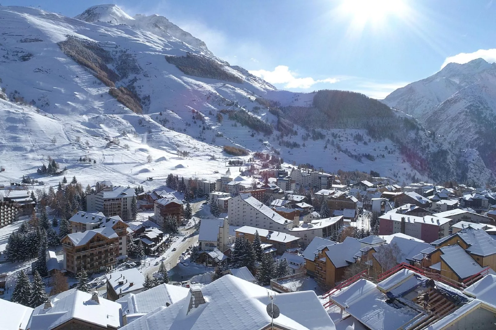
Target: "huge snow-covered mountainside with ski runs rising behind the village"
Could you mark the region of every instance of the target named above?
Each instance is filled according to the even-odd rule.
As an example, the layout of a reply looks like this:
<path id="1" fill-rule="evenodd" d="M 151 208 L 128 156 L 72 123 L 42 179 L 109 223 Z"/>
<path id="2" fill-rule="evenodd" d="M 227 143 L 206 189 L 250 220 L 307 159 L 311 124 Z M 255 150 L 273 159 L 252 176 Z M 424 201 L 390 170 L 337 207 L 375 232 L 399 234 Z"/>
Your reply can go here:
<path id="1" fill-rule="evenodd" d="M 0 184 L 36 173 L 48 157 L 68 175 L 92 176 L 85 183 L 136 185 L 170 172 L 213 179 L 227 170 L 224 145 L 400 182 L 454 178 L 460 168 L 461 157 L 416 124 L 393 142 L 353 125 L 311 130 L 285 119 L 280 109 L 314 113 L 315 93 L 276 90 L 163 16 L 130 17 L 115 5 L 76 18 L 0 6 L 0 30 Z M 439 153 L 442 173 L 426 165 Z"/>

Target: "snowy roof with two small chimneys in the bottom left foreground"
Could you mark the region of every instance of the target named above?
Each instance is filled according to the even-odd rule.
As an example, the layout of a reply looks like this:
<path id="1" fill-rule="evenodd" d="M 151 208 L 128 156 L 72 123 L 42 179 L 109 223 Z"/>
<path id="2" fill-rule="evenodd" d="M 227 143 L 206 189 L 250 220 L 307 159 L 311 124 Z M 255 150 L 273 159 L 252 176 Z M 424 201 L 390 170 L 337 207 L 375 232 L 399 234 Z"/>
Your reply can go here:
<path id="1" fill-rule="evenodd" d="M 122 326 L 121 304 L 98 297 L 99 303 L 91 300 L 92 294 L 74 290 L 61 299 L 51 299 L 52 307 L 40 305 L 33 311 L 30 330 L 50 330 L 72 319 L 91 323 L 99 327 L 120 328 Z"/>

